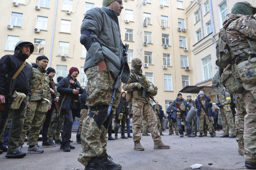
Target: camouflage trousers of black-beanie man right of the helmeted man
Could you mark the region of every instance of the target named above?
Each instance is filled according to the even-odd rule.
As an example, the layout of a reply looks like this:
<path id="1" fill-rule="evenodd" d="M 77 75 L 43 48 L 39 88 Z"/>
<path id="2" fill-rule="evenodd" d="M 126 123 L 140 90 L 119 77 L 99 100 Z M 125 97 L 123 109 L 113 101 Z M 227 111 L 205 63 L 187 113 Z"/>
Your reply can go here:
<path id="1" fill-rule="evenodd" d="M 39 112 L 38 108 L 40 106 L 39 102 L 30 101 L 30 107 L 26 111 L 26 118 L 24 120 L 24 125 L 22 129 L 22 133 L 20 135 L 20 141 L 18 145 L 21 147 L 25 143 L 26 133 L 28 129 L 30 129 L 30 133 L 28 135 L 27 145 L 36 145 L 38 142 L 38 137 L 40 134 L 40 129 L 45 120 L 45 113 Z"/>

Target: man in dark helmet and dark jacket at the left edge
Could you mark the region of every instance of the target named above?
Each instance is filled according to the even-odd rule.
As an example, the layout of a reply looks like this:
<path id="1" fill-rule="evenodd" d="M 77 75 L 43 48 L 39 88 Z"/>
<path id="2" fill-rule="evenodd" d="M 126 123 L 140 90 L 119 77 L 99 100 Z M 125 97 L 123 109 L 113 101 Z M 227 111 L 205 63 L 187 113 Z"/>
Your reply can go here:
<path id="1" fill-rule="evenodd" d="M 16 79 L 16 84 L 14 90 L 26 95 L 22 100 L 21 105 L 18 109 L 9 109 L 8 119 L 12 117 L 12 125 L 9 131 L 9 140 L 7 143 L 8 150 L 6 157 L 7 158 L 22 158 L 26 156 L 26 153 L 23 153 L 18 149 L 18 141 L 20 139 L 20 134 L 22 132 L 22 127 L 24 124 L 24 119 L 26 116 L 26 108 L 28 106 L 28 98 L 31 94 L 30 88 L 30 79 L 32 77 L 32 66 L 26 62 L 26 59 L 33 53 L 34 45 L 27 41 L 19 41 L 14 49 L 14 55 L 5 55 L 0 59 L 0 122 L 2 121 L 2 111 L 5 103 L 7 102 L 7 95 L 9 89 L 9 78 L 12 78 L 18 69 L 24 64 L 24 68 L 18 74 Z M 8 77 L 6 76 L 8 75 Z M 13 94 L 13 92 L 12 92 Z M 8 123 L 6 121 L 6 125 Z M 0 134 L 0 145 L 2 149 L 3 144 L 3 134 L 7 129 L 2 129 Z M 1 152 L 0 149 L 0 152 Z"/>

